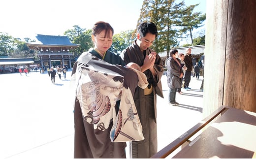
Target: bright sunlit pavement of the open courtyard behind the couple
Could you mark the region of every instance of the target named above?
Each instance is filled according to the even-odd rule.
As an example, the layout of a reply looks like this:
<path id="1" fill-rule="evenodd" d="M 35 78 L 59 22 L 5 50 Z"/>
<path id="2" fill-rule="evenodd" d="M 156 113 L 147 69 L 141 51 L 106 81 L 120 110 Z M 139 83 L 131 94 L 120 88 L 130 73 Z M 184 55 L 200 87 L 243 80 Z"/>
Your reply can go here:
<path id="1" fill-rule="evenodd" d="M 73 158 L 70 76 L 70 70 L 66 80 L 57 75 L 53 85 L 47 73 L 0 74 L 0 159 Z M 162 77 L 164 98 L 157 99 L 159 150 L 202 119 L 201 82 L 192 78 L 192 90 L 182 90 L 183 95 L 176 95 L 180 105 L 172 106 L 166 76 Z"/>

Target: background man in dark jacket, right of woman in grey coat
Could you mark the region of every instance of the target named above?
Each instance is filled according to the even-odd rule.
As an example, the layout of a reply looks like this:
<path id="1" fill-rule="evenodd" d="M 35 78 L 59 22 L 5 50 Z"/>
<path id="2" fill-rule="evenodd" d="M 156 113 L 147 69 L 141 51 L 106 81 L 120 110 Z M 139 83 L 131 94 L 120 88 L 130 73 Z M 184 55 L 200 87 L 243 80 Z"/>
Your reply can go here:
<path id="1" fill-rule="evenodd" d="M 188 90 L 188 89 L 191 89 L 191 88 L 189 88 L 189 84 L 190 84 L 190 80 L 191 80 L 191 71 L 192 71 L 192 67 L 193 67 L 192 58 L 191 58 L 191 48 L 186 49 L 186 55 L 184 58 L 184 62 L 187 66 L 187 70 L 186 70 L 185 76 L 183 78 L 184 89 Z"/>

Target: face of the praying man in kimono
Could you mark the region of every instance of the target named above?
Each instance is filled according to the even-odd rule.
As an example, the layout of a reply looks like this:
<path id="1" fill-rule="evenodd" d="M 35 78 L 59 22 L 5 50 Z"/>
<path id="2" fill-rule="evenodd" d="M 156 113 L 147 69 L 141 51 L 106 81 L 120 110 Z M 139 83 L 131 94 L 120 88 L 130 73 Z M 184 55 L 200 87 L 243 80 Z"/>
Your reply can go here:
<path id="1" fill-rule="evenodd" d="M 137 45 L 139 46 L 141 52 L 146 50 L 148 47 L 150 47 L 154 40 L 156 38 L 156 35 L 148 32 L 146 36 L 141 37 L 139 33 L 137 33 Z"/>

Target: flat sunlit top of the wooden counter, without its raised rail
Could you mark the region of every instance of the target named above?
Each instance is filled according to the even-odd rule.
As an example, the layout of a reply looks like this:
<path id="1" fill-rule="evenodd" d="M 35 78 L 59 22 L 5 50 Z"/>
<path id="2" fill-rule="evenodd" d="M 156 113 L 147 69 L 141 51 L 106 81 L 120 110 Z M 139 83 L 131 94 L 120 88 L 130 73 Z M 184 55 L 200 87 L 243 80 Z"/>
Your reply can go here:
<path id="1" fill-rule="evenodd" d="M 218 119 L 173 158 L 252 158 L 256 113 L 225 107 Z"/>

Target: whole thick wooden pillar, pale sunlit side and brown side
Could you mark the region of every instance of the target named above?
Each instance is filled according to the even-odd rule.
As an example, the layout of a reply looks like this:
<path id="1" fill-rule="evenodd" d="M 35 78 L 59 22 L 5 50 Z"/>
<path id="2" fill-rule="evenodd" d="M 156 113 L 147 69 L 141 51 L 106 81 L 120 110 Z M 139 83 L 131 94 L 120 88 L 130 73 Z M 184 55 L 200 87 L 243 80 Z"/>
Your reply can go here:
<path id="1" fill-rule="evenodd" d="M 207 0 L 204 107 L 256 112 L 256 0 Z"/>

